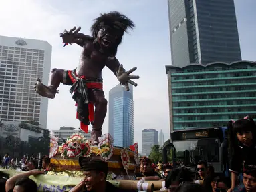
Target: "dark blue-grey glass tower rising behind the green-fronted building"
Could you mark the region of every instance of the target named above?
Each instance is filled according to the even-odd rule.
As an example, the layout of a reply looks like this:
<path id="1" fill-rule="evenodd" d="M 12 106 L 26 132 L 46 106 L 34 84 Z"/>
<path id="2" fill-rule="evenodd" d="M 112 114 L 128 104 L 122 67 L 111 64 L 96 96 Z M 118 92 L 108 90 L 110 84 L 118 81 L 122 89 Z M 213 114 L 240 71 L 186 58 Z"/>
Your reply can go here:
<path id="1" fill-rule="evenodd" d="M 172 65 L 241 60 L 233 0 L 168 0 Z"/>

